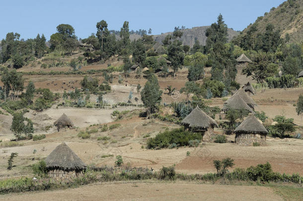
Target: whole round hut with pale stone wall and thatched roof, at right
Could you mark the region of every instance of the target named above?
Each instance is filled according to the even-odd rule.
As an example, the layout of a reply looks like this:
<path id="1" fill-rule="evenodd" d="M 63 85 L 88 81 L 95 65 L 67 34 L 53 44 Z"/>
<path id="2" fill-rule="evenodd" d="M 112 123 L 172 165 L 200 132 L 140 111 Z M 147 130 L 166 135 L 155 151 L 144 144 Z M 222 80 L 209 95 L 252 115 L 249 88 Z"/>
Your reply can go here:
<path id="1" fill-rule="evenodd" d="M 233 131 L 234 142 L 241 145 L 252 145 L 253 142 L 264 144 L 268 131 L 254 115 L 248 117 Z"/>

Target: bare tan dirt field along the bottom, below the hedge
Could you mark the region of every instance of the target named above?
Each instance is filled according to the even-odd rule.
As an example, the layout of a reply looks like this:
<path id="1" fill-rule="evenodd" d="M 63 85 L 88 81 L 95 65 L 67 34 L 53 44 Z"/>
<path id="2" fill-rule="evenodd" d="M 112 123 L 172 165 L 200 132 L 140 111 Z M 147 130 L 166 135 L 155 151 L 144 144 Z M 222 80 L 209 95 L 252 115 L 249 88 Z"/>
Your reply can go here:
<path id="1" fill-rule="evenodd" d="M 0 196 L 0 201 L 283 201 L 268 187 L 116 182 Z"/>

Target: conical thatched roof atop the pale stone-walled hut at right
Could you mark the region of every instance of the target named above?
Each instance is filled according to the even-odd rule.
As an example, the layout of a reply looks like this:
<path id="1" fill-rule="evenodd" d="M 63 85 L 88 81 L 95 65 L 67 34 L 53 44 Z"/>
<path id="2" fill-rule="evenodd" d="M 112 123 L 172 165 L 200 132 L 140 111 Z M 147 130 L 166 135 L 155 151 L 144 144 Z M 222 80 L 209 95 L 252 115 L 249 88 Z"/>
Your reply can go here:
<path id="1" fill-rule="evenodd" d="M 268 134 L 268 131 L 254 115 L 248 115 L 248 117 L 244 119 L 244 121 L 234 130 L 234 132 Z"/>

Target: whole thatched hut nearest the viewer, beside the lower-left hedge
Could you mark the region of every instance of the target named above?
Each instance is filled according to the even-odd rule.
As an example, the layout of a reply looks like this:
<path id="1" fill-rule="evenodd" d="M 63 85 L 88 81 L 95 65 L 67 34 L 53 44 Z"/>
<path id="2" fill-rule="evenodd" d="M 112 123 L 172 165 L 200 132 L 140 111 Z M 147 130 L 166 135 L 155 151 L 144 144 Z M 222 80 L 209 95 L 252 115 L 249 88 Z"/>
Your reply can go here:
<path id="1" fill-rule="evenodd" d="M 45 159 L 46 169 L 51 177 L 76 177 L 86 169 L 85 163 L 64 142 L 58 145 Z"/>

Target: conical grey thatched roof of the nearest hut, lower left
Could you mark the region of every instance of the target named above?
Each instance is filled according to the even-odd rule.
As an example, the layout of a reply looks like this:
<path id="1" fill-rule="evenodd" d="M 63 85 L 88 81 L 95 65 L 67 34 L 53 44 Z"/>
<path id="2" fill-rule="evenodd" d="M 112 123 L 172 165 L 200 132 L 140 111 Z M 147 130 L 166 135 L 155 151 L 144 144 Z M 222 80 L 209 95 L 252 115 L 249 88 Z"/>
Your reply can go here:
<path id="1" fill-rule="evenodd" d="M 45 159 L 46 168 L 61 170 L 82 170 L 86 165 L 64 142 L 58 145 Z"/>

